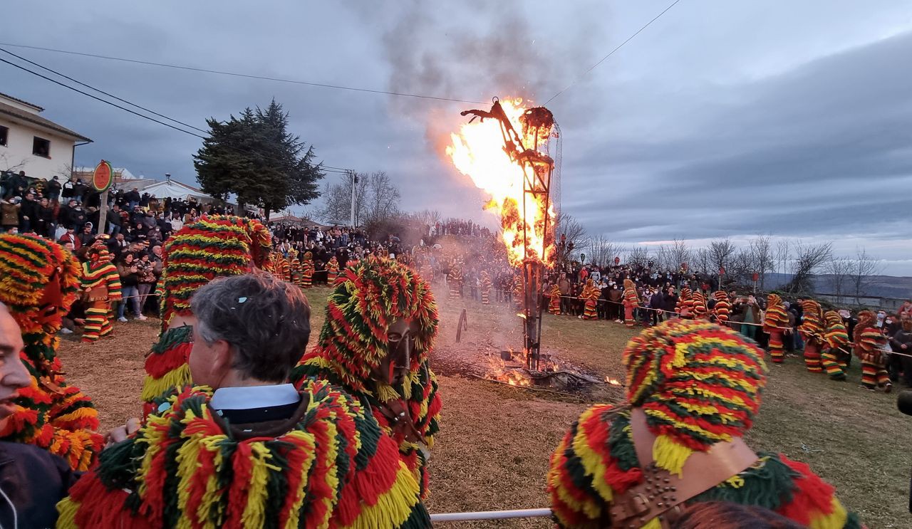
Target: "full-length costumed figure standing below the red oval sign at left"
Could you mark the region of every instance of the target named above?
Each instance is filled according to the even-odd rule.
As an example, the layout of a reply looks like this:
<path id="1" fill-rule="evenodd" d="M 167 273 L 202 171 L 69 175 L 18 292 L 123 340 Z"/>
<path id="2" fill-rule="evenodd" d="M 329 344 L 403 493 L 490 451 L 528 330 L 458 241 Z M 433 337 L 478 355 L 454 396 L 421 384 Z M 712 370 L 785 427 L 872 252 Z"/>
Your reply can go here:
<path id="1" fill-rule="evenodd" d="M 120 300 L 120 275 L 111 265 L 111 254 L 99 239 L 88 250 L 88 261 L 82 264 L 82 300 L 86 304 L 86 328 L 83 343 L 98 341 L 114 330 L 111 304 Z"/>

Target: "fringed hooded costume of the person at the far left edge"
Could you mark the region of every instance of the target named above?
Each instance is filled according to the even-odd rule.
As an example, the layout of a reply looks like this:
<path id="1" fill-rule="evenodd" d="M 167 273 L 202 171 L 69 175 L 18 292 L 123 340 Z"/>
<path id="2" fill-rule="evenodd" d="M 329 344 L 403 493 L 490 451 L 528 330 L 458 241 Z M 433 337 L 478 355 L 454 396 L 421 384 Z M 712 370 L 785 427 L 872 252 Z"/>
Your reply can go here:
<path id="1" fill-rule="evenodd" d="M 33 235 L 0 234 L 0 302 L 22 330 L 20 357 L 31 385 L 19 389 L 16 411 L 0 440 L 25 442 L 85 471 L 104 442 L 98 412 L 77 387 L 68 386 L 57 358 L 57 330 L 76 301 L 80 269 L 73 254 Z"/>

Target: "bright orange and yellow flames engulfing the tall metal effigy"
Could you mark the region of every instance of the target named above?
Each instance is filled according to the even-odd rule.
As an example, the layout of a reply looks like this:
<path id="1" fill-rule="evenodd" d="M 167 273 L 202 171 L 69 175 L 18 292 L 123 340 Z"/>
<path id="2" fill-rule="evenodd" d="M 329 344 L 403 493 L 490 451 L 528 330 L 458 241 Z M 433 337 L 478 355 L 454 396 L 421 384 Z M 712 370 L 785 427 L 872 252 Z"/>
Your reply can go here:
<path id="1" fill-rule="evenodd" d="M 521 134 L 523 146 L 532 149 L 536 143 L 540 152 L 546 149 L 551 128 L 523 127 L 520 116 L 526 110 L 523 99 L 502 99 L 501 106 L 515 129 Z M 503 244 L 507 247 L 510 264 L 521 266 L 533 259 L 549 267 L 554 265 L 554 207 L 544 194 L 523 192 L 523 179 L 535 182 L 533 170 L 523 173 L 522 166 L 511 160 L 504 149 L 500 121 L 476 119 L 451 134 L 452 145 L 446 148 L 453 165 L 472 178 L 480 189 L 491 195 L 484 209 L 500 214 Z M 539 188 L 536 188 L 539 189 Z M 525 213 L 523 218 L 523 194 Z M 547 207 L 545 207 L 547 203 Z M 545 233 L 545 223 L 548 232 Z M 528 244 L 523 245 L 523 233 Z M 527 250 L 526 250 L 527 249 Z M 528 251 L 528 255 L 525 252 Z"/>

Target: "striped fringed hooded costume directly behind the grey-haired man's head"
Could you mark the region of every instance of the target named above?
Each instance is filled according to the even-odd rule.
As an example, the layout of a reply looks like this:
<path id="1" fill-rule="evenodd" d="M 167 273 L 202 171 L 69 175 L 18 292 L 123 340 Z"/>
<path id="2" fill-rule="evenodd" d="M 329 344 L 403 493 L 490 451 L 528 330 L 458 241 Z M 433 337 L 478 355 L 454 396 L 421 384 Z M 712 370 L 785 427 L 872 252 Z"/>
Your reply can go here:
<path id="1" fill-rule="evenodd" d="M 242 275 L 263 265 L 269 256 L 271 237 L 259 221 L 236 216 L 213 215 L 184 225 L 165 244 L 162 253 L 161 324 L 158 341 L 146 357 L 146 379 L 141 399 L 144 411 L 191 383 L 192 327 L 171 327 L 175 317 L 191 316 L 193 294 L 216 277 Z"/>

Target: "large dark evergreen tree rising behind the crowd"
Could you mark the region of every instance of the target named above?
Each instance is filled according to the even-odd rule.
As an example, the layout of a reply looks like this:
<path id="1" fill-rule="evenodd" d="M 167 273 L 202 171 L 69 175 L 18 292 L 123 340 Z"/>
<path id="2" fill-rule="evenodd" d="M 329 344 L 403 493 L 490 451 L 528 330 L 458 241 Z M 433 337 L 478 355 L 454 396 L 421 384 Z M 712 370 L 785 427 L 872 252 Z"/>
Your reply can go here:
<path id="1" fill-rule="evenodd" d="M 314 163 L 314 148 L 287 130 L 282 105 L 244 109 L 227 121 L 207 119 L 209 138 L 193 155 L 202 191 L 223 200 L 237 196 L 240 206 L 253 205 L 269 214 L 320 196 L 316 182 L 324 177 Z"/>

